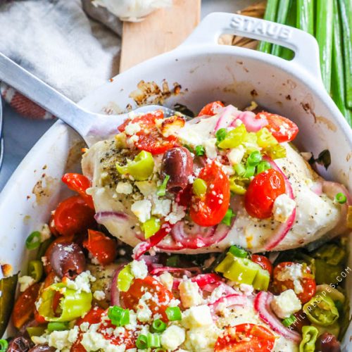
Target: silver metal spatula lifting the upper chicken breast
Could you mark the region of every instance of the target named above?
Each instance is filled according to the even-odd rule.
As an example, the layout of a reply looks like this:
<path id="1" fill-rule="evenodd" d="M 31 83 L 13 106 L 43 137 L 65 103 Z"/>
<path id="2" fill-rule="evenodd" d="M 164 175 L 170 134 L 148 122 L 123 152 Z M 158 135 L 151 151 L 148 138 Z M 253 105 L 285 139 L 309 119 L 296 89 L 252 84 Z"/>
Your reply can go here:
<path id="1" fill-rule="evenodd" d="M 80 134 L 87 146 L 115 134 L 116 128 L 128 115 L 103 115 L 86 111 L 1 53 L 0 80 L 66 122 Z M 142 106 L 134 110 L 134 113 L 147 113 L 157 109 L 162 109 L 165 117 L 176 113 L 170 108 L 157 105 Z"/>

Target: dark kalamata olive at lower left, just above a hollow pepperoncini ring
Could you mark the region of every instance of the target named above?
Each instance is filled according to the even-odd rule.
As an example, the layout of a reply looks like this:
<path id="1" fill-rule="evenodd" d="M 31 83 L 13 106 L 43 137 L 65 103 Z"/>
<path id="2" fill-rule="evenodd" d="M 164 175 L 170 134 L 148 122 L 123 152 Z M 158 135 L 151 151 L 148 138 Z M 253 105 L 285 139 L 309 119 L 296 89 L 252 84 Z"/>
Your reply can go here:
<path id="1" fill-rule="evenodd" d="M 75 278 L 84 271 L 86 260 L 80 246 L 75 243 L 56 243 L 50 255 L 50 264 L 59 277 Z"/>

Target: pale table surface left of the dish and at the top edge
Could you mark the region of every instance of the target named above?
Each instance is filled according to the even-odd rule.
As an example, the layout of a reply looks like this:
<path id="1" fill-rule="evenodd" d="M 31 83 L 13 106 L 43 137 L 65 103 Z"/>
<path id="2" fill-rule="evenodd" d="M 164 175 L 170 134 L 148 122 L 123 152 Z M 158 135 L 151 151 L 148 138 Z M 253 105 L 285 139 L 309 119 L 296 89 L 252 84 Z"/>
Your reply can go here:
<path id="1" fill-rule="evenodd" d="M 202 0 L 201 16 L 214 11 L 235 12 L 258 0 Z M 20 161 L 54 121 L 28 120 L 4 106 L 4 164 L 0 171 L 0 190 Z"/>

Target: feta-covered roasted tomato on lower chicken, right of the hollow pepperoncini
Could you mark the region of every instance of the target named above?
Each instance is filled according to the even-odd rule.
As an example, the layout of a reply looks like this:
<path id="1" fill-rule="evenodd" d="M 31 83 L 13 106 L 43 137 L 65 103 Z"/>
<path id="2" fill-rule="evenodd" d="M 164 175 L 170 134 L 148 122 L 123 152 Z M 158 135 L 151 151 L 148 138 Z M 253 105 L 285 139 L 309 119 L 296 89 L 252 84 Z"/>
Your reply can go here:
<path id="1" fill-rule="evenodd" d="M 165 310 L 174 297 L 163 284 L 153 277 L 147 276 L 144 279 L 134 279 L 130 289 L 127 292 L 121 292 L 120 296 L 126 308 L 137 310 L 139 299 L 146 292 L 151 294 L 151 298 L 146 300 L 146 305 L 153 314 L 161 314 L 163 320 L 167 322 L 168 316 Z"/>

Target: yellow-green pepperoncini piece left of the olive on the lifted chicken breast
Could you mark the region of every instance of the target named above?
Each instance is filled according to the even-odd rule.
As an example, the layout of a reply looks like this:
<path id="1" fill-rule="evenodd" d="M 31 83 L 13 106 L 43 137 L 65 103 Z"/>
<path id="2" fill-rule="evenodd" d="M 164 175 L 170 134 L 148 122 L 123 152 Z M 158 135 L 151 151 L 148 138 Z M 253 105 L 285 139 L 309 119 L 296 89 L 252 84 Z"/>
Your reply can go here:
<path id="1" fill-rule="evenodd" d="M 153 173 L 154 159 L 149 151 L 141 151 L 127 165 L 121 166 L 116 163 L 116 169 L 121 175 L 130 174 L 134 180 L 144 181 Z"/>

